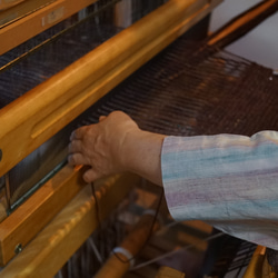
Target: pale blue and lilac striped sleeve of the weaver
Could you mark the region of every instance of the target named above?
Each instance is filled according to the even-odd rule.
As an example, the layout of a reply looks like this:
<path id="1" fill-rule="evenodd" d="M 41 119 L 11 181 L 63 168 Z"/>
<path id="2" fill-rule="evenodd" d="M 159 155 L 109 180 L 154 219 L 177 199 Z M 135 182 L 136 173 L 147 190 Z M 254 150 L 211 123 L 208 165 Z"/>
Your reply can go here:
<path id="1" fill-rule="evenodd" d="M 167 137 L 161 168 L 176 220 L 278 249 L 278 132 Z"/>

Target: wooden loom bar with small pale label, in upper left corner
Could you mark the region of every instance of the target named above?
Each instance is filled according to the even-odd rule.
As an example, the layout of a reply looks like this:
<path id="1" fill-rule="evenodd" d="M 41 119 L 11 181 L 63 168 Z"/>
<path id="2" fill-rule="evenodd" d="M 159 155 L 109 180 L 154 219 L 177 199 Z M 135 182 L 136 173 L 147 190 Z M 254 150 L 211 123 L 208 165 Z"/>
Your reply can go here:
<path id="1" fill-rule="evenodd" d="M 0 29 L 0 54 L 57 24 L 97 0 L 57 0 Z"/>

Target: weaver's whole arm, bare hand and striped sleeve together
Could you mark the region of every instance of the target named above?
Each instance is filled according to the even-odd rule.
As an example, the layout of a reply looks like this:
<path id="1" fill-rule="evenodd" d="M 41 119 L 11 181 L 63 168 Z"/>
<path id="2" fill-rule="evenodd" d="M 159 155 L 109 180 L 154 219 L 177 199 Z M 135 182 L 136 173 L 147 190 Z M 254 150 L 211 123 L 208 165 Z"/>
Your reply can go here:
<path id="1" fill-rule="evenodd" d="M 91 167 L 83 177 L 88 182 L 110 173 L 136 172 L 163 183 L 175 219 L 205 220 L 278 249 L 276 131 L 252 137 L 166 137 L 140 130 L 117 111 L 101 117 L 98 125 L 76 130 L 69 152 L 71 165 Z"/>

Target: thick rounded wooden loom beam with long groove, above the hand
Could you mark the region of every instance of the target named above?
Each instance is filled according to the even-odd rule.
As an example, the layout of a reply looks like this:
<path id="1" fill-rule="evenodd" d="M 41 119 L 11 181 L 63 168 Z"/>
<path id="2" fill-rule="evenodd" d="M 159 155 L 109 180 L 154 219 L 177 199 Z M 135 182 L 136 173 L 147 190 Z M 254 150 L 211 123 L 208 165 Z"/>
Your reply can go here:
<path id="1" fill-rule="evenodd" d="M 170 0 L 0 110 L 0 176 L 203 18 L 220 0 Z"/>

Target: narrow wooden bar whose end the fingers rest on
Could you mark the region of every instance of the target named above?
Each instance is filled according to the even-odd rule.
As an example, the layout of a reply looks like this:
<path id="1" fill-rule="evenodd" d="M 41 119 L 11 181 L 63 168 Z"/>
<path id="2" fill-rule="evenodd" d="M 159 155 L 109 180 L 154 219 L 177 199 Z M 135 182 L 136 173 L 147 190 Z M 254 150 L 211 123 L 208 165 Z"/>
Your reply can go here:
<path id="1" fill-rule="evenodd" d="M 0 265 L 24 247 L 82 189 L 81 168 L 64 167 L 0 224 Z"/>

